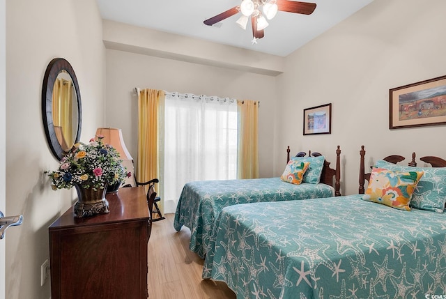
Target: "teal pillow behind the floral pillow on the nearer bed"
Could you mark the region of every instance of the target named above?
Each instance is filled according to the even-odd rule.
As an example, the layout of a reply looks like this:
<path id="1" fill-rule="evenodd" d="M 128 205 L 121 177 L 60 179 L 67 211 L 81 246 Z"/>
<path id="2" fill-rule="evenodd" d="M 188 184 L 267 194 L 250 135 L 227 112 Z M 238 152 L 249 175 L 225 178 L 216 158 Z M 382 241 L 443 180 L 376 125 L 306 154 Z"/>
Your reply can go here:
<path id="1" fill-rule="evenodd" d="M 376 167 L 393 171 L 424 171 L 409 206 L 443 213 L 446 203 L 446 167 L 401 166 L 384 160 L 376 161 Z"/>

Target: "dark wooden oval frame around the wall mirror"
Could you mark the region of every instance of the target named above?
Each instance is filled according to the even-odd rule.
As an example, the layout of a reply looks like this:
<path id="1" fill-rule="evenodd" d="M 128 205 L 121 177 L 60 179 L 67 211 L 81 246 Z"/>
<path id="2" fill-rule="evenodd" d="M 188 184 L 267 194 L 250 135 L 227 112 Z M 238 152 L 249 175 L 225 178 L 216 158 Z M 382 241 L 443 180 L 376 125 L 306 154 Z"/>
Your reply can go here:
<path id="1" fill-rule="evenodd" d="M 67 152 L 63 150 L 59 140 L 56 137 L 56 132 L 54 130 L 53 123 L 53 112 L 52 112 L 52 98 L 53 98 L 53 88 L 54 82 L 61 71 L 65 70 L 68 72 L 72 79 L 72 84 L 75 87 L 76 98 L 77 98 L 77 130 L 75 142 L 77 143 L 81 136 L 82 127 L 82 105 L 81 105 L 81 93 L 79 91 L 79 84 L 77 83 L 77 78 L 75 71 L 68 61 L 63 58 L 55 58 L 49 62 L 47 70 L 45 70 L 45 77 L 43 78 L 42 86 L 42 117 L 43 117 L 43 127 L 45 128 L 45 135 L 47 137 L 47 142 L 52 154 L 58 160 L 63 158 Z M 71 144 L 72 146 L 73 144 Z"/>

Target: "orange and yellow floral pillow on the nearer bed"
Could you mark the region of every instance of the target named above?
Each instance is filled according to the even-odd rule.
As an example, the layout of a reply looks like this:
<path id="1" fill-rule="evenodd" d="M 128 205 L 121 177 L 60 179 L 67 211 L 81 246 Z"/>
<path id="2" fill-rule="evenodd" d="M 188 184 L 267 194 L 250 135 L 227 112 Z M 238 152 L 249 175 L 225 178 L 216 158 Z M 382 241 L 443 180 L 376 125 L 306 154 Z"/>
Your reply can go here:
<path id="1" fill-rule="evenodd" d="M 423 171 L 401 172 L 376 167 L 371 171 L 370 183 L 362 199 L 410 210 L 410 199 L 423 174 Z"/>

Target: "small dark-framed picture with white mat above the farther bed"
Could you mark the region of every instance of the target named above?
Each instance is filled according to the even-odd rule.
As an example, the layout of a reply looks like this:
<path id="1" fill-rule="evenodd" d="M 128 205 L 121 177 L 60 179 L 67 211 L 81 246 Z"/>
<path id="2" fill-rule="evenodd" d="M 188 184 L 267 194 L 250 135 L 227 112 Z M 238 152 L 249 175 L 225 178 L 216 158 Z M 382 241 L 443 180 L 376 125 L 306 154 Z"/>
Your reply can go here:
<path id="1" fill-rule="evenodd" d="M 331 134 L 332 104 L 304 109 L 304 135 Z"/>

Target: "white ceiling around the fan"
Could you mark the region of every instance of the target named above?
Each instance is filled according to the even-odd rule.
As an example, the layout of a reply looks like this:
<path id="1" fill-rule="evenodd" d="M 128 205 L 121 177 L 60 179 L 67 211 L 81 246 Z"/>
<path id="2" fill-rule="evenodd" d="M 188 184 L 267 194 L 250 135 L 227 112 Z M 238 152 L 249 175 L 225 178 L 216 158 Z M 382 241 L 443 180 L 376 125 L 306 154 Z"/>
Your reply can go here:
<path id="1" fill-rule="evenodd" d="M 315 0 L 312 15 L 279 11 L 265 37 L 252 44 L 252 29 L 236 24 L 240 13 L 217 25 L 203 21 L 238 6 L 241 0 L 96 0 L 103 19 L 190 36 L 215 43 L 287 56 L 373 0 Z"/>

